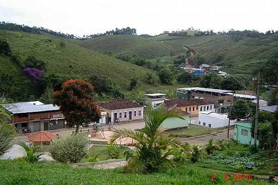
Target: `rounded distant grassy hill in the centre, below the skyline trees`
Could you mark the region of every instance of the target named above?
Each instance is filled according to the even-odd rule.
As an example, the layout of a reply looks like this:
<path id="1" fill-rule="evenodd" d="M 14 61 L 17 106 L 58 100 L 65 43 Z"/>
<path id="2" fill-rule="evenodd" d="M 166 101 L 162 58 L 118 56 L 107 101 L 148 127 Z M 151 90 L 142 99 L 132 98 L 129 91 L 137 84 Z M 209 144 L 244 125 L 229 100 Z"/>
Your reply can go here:
<path id="1" fill-rule="evenodd" d="M 84 40 L 81 42 L 81 45 L 87 49 L 106 54 L 127 54 L 130 56 L 136 54 L 139 57 L 147 59 L 168 56 L 171 52 L 175 51 L 171 46 L 165 45 L 161 41 L 132 35 L 102 36 Z"/>

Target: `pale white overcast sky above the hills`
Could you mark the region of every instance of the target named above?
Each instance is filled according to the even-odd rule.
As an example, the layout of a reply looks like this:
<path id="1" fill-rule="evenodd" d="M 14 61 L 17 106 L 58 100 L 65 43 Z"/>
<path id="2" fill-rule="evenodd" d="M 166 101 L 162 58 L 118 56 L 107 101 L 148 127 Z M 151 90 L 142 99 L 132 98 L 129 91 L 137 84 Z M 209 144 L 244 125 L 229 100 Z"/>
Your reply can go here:
<path id="1" fill-rule="evenodd" d="M 137 34 L 187 29 L 278 30 L 276 0 L 0 0 L 0 21 L 64 33 L 101 33 L 122 27 Z"/>

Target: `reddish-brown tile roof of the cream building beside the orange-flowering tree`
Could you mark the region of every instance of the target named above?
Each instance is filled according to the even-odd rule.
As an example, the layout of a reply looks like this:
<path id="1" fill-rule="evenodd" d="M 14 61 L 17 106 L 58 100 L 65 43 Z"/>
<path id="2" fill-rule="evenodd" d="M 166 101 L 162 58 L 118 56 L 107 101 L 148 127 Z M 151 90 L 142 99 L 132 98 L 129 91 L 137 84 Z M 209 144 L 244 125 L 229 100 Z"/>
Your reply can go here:
<path id="1" fill-rule="evenodd" d="M 99 107 L 108 110 L 118 110 L 118 109 L 130 109 L 130 108 L 143 107 L 143 106 L 135 104 L 128 100 L 113 100 L 111 102 L 100 103 Z"/>

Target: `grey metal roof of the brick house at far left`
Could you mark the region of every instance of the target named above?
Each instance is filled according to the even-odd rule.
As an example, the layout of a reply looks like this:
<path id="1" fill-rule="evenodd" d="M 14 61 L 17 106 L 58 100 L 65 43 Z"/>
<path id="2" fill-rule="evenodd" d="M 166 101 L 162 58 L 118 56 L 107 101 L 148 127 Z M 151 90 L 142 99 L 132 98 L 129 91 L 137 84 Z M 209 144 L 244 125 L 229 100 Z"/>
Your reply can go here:
<path id="1" fill-rule="evenodd" d="M 19 113 L 31 113 L 31 112 L 46 112 L 46 111 L 58 111 L 60 108 L 52 104 L 44 105 L 40 102 L 39 105 L 34 105 L 33 102 L 19 102 L 12 104 L 2 105 L 7 111 L 13 114 Z"/>

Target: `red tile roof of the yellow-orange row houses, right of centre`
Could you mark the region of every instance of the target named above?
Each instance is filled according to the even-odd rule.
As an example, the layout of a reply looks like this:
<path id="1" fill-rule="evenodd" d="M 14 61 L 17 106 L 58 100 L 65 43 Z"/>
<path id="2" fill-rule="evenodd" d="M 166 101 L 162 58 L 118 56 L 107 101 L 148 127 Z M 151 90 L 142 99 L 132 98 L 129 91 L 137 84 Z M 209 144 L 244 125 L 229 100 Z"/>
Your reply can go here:
<path id="1" fill-rule="evenodd" d="M 176 105 L 177 107 L 186 107 L 186 106 L 199 106 L 199 105 L 209 105 L 212 104 L 208 100 L 182 100 L 182 99 L 170 99 L 165 101 L 166 107 Z"/>

